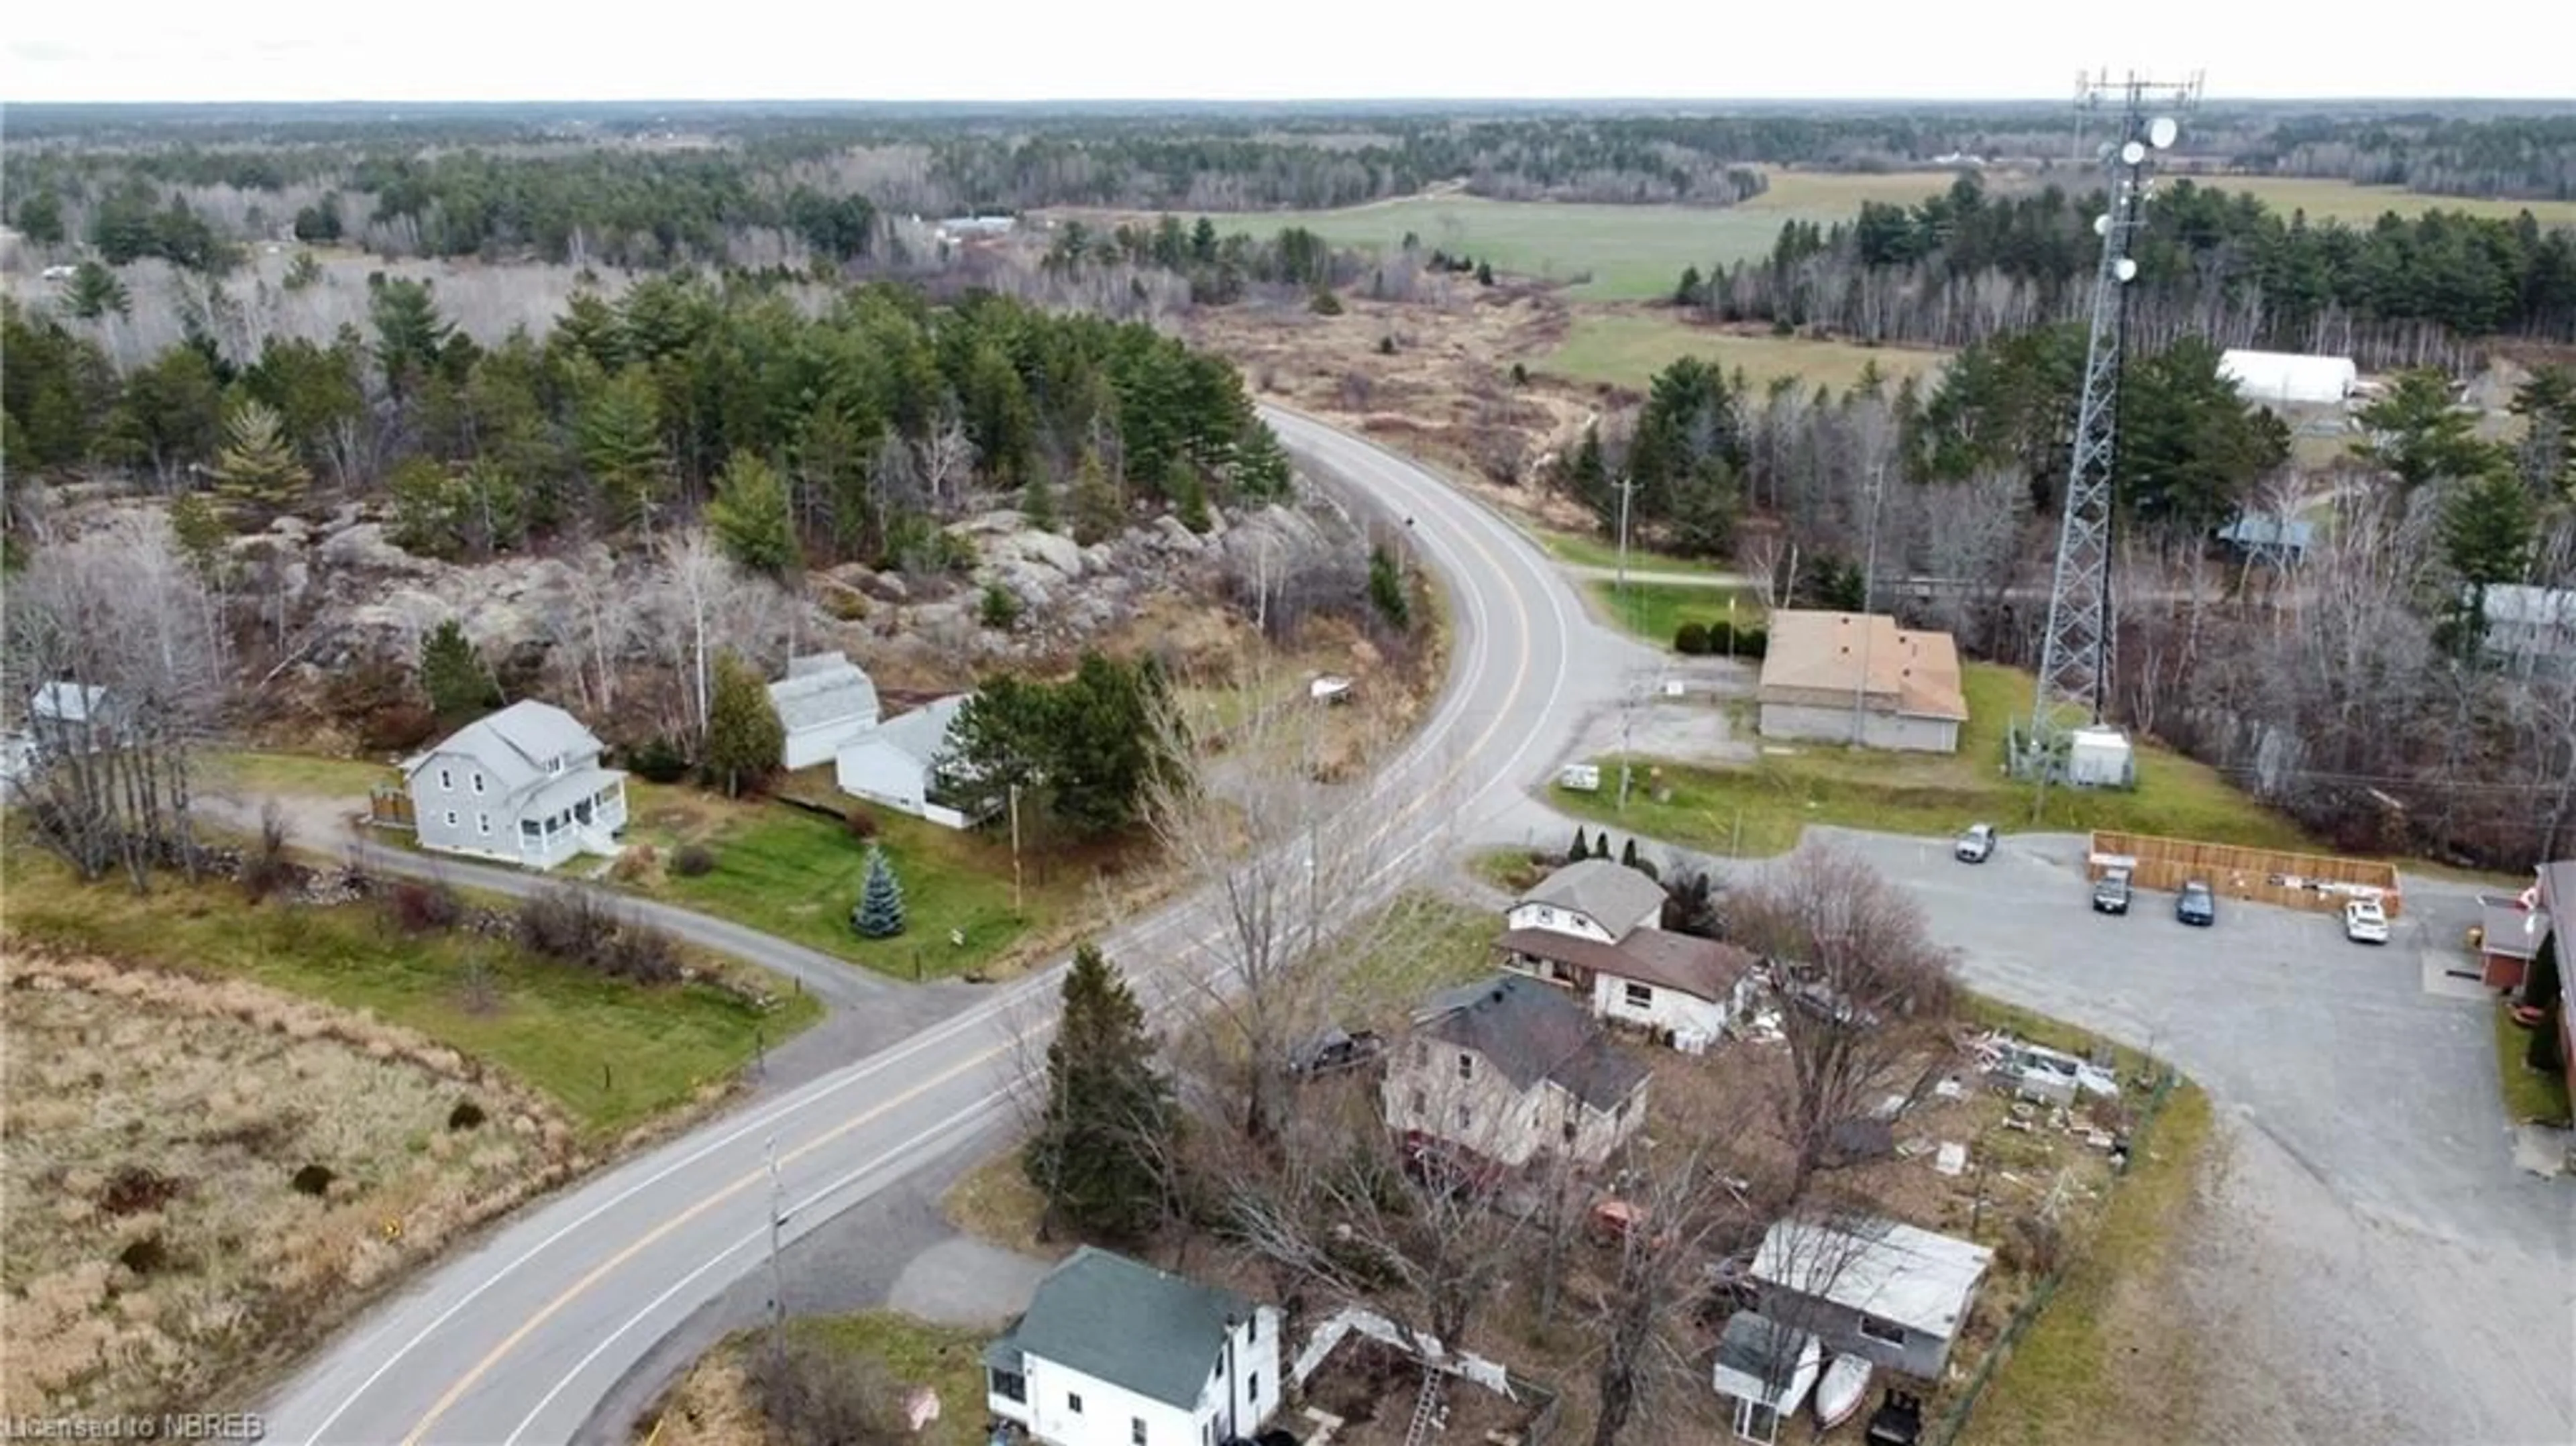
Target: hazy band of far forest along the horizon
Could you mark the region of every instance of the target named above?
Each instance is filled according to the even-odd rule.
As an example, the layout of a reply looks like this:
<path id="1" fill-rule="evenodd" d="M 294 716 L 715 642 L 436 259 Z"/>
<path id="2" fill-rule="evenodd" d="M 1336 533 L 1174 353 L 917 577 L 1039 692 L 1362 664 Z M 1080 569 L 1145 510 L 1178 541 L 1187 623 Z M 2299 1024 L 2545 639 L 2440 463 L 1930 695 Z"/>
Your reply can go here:
<path id="1" fill-rule="evenodd" d="M 330 116 L 330 119 L 322 119 Z M 1461 183 L 1473 196 L 1726 206 L 1762 165 L 1904 170 L 2061 165 L 2074 119 L 2043 108 L 1747 113 L 884 113 L 317 111 L 191 116 L 13 111 L 5 214 L 39 245 L 134 245 L 137 214 L 216 240 L 353 240 L 389 255 L 724 260 L 770 229 L 850 258 L 878 214 L 1108 206 L 1329 209 Z M 2336 175 L 2460 196 L 2576 196 L 2576 116 L 2192 116 L 2182 162 Z M 175 229 L 185 229 L 178 224 Z M 118 240 L 124 237 L 124 240 Z M 191 245 L 147 245 L 183 260 Z M 183 260 L 201 265 L 222 255 Z"/>

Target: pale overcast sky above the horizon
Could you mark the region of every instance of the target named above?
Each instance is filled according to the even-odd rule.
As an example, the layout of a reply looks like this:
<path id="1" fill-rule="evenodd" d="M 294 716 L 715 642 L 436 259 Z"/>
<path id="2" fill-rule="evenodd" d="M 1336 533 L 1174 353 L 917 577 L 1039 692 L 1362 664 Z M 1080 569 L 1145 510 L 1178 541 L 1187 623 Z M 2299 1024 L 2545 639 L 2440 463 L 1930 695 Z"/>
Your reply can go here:
<path id="1" fill-rule="evenodd" d="M 2197 67 L 2213 101 L 2576 95 L 2568 0 L 2488 0 L 2473 26 L 2244 0 L 1528 5 L 1546 26 L 1510 0 L 10 10 L 8 101 L 2061 98 L 2105 64 Z"/>

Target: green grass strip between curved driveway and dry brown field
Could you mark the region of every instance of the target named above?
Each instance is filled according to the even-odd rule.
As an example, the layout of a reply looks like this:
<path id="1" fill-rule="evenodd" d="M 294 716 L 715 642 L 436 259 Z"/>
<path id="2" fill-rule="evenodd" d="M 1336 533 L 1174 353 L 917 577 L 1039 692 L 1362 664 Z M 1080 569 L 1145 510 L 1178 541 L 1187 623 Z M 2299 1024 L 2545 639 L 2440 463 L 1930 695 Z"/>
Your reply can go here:
<path id="1" fill-rule="evenodd" d="M 371 1010 L 515 1075 L 592 1137 L 688 1103 L 819 1018 L 814 1000 L 775 979 L 762 982 L 781 1003 L 760 1013 L 706 985 L 647 990 L 497 941 L 402 938 L 366 905 L 252 907 L 232 884 L 180 882 L 137 897 L 118 882 L 80 884 L 33 848 L 13 848 L 10 871 L 18 938 Z M 487 1008 L 469 990 L 477 961 Z"/>

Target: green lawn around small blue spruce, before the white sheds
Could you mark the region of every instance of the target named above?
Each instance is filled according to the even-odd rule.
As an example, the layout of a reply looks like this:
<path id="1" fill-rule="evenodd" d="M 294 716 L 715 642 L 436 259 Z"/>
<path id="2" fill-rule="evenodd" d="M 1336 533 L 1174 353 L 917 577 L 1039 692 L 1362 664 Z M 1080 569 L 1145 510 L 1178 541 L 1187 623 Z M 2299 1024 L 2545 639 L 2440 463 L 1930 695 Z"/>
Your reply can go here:
<path id="1" fill-rule="evenodd" d="M 860 938 L 850 910 L 868 871 L 868 845 L 848 825 L 783 802 L 729 802 L 703 789 L 626 784 L 626 843 L 649 843 L 662 869 L 639 892 L 793 938 L 881 974 L 925 979 L 997 967 L 1020 946 L 1054 941 L 1090 905 L 1095 861 L 1061 848 L 1025 848 L 1023 907 L 1010 902 L 1010 838 L 938 827 L 873 809 L 876 840 L 904 884 L 904 933 Z M 1025 822 L 1025 820 L 1023 820 Z M 708 874 L 667 869 L 683 843 L 716 856 Z M 1118 887 L 1115 882 L 1110 884 Z M 966 941 L 953 943 L 951 930 Z"/>

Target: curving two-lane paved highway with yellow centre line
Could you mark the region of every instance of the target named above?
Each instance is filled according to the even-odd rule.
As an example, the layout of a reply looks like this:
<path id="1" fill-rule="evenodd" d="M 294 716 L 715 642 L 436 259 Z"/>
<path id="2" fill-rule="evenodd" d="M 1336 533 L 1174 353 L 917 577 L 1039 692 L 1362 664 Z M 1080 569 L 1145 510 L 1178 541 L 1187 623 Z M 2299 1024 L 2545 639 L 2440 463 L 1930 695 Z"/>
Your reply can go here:
<path id="1" fill-rule="evenodd" d="M 1383 863 L 1350 900 L 1358 912 L 1437 863 L 1445 840 L 1520 833 L 1528 789 L 1579 714 L 1654 657 L 1597 629 L 1533 544 L 1412 461 L 1291 412 L 1267 420 L 1309 472 L 1412 518 L 1453 601 L 1448 688 L 1383 786 L 1352 804 L 1383 815 L 1370 851 Z M 1131 969 L 1203 967 L 1193 941 L 1213 933 L 1211 902 L 1188 897 L 1105 946 Z M 927 1165 L 1007 1108 L 1015 1034 L 1054 990 L 1054 969 L 994 990 L 520 1214 L 343 1333 L 268 1402 L 268 1438 L 569 1441 L 654 1340 L 765 1266 L 770 1157 L 788 1240 Z"/>

